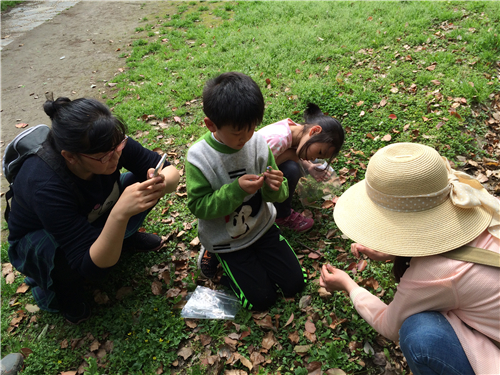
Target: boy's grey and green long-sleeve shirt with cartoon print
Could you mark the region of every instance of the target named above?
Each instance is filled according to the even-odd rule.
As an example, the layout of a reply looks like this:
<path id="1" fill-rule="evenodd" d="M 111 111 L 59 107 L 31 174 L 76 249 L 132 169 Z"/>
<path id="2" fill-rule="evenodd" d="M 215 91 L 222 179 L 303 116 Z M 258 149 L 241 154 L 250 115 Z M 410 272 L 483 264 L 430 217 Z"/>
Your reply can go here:
<path id="1" fill-rule="evenodd" d="M 278 191 L 266 183 L 248 195 L 238 183 L 245 174 L 278 169 L 263 137 L 254 134 L 241 150 L 234 150 L 206 133 L 187 153 L 188 208 L 198 217 L 200 242 L 211 252 L 231 252 L 259 239 L 274 223 L 271 202 L 288 197 L 288 182 Z"/>

